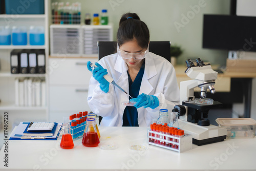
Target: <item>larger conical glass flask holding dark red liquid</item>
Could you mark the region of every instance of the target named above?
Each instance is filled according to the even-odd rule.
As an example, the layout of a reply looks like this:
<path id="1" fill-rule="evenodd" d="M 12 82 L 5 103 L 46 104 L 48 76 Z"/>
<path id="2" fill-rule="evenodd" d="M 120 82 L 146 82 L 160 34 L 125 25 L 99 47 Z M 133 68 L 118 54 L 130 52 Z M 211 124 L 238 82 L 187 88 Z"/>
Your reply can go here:
<path id="1" fill-rule="evenodd" d="M 86 119 L 86 130 L 82 137 L 82 144 L 87 147 L 95 147 L 99 145 L 99 136 L 96 131 L 96 122 L 94 118 Z"/>

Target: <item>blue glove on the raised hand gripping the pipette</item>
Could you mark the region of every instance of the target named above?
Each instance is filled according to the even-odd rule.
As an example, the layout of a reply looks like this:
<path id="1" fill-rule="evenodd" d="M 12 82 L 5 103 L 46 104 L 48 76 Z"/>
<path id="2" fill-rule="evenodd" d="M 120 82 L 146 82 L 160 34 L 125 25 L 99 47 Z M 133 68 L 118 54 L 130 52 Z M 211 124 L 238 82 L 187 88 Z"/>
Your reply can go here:
<path id="1" fill-rule="evenodd" d="M 108 72 L 106 71 L 106 69 L 101 67 L 101 65 L 99 65 L 98 62 L 95 62 L 95 65 L 97 67 L 95 67 L 94 70 L 92 70 L 90 65 L 91 65 L 91 61 L 88 61 L 87 62 L 87 68 L 88 68 L 89 71 L 91 71 L 93 73 L 93 78 L 96 79 L 99 82 L 100 89 L 103 92 L 108 93 L 109 88 L 110 88 L 110 83 L 103 77 L 104 75 L 108 74 Z"/>

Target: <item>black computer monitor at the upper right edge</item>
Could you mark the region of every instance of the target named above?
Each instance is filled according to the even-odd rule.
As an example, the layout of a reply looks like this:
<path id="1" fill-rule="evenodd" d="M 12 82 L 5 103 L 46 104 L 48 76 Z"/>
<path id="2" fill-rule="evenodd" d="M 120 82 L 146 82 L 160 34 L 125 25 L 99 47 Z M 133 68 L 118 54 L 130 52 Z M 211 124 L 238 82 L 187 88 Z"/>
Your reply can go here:
<path id="1" fill-rule="evenodd" d="M 205 14 L 203 48 L 256 52 L 256 17 Z"/>

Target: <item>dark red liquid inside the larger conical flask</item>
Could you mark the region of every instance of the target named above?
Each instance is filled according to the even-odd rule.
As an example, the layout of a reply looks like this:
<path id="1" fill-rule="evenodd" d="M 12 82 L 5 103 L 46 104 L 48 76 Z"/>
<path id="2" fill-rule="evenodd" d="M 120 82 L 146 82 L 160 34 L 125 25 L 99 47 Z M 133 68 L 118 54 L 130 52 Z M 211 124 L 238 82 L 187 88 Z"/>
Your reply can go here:
<path id="1" fill-rule="evenodd" d="M 95 147 L 99 144 L 99 137 L 96 132 L 87 132 L 83 134 L 82 144 L 88 147 Z"/>

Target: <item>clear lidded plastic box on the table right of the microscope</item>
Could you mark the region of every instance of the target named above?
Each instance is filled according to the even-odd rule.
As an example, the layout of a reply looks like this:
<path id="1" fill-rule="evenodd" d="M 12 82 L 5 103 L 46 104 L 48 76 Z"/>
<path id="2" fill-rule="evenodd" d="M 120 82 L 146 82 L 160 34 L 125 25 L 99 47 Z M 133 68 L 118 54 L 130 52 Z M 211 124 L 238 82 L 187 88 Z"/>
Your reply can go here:
<path id="1" fill-rule="evenodd" d="M 256 121 L 251 118 L 218 118 L 216 122 L 227 129 L 227 138 L 254 138 Z"/>

